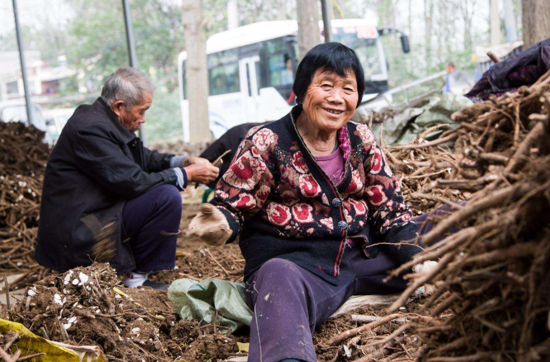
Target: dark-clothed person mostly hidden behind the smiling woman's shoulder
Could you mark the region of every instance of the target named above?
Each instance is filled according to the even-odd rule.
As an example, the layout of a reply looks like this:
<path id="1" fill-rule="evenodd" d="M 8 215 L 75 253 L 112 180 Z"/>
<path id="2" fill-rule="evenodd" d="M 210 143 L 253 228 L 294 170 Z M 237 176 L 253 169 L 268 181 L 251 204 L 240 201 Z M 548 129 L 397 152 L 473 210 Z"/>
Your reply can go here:
<path id="1" fill-rule="evenodd" d="M 261 124 L 263 123 L 243 123 L 238 126 L 232 127 L 226 133 L 223 133 L 221 137 L 219 137 L 214 143 L 208 146 L 204 152 L 200 154 L 199 157 L 205 158 L 208 161 L 213 162 L 227 151 L 230 151 L 222 157 L 223 163 L 221 166 L 219 166 L 219 173 L 218 177 L 216 177 L 216 180 L 207 183 L 206 186 L 210 188 L 216 188 L 216 183 L 226 173 L 227 169 L 229 168 L 229 163 L 233 159 L 235 153 L 237 153 L 237 148 L 239 148 L 239 144 L 241 143 L 241 141 L 243 141 L 246 133 L 248 133 L 248 131 L 250 131 L 252 127 L 259 126 Z"/>

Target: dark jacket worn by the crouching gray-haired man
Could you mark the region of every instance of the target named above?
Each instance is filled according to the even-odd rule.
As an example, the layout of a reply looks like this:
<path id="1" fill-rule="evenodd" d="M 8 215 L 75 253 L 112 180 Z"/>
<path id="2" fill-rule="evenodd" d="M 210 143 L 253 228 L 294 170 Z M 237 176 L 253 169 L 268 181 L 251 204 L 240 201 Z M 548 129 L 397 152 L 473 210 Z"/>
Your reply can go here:
<path id="1" fill-rule="evenodd" d="M 133 270 L 133 254 L 122 241 L 122 208 L 152 187 L 177 184 L 172 157 L 143 147 L 101 98 L 78 107 L 46 166 L 36 261 L 58 271 L 90 265 L 94 235 L 81 219 L 93 214 L 103 224 L 115 222 L 113 268 Z"/>

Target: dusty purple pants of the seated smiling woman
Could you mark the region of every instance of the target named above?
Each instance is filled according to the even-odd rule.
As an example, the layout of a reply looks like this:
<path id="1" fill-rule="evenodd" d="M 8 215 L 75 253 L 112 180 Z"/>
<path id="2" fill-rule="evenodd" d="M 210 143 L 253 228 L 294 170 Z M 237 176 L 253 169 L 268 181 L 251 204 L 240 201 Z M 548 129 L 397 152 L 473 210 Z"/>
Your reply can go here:
<path id="1" fill-rule="evenodd" d="M 449 208 L 443 207 L 437 213 Z M 432 229 L 424 214 L 415 219 L 420 232 Z M 246 281 L 246 299 L 253 311 L 250 324 L 249 362 L 298 359 L 316 362 L 312 334 L 353 295 L 403 291 L 406 281 L 383 279 L 398 266 L 388 254 L 367 259 L 359 244 L 348 244 L 340 263 L 338 285 L 300 268 L 292 261 L 271 259 Z"/>

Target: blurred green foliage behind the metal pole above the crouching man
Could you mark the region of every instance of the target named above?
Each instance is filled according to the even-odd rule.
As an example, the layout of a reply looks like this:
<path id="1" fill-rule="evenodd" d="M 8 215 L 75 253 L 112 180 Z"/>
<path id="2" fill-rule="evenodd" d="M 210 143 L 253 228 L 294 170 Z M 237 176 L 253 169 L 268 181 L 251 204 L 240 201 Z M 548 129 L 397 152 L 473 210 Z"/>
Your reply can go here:
<path id="1" fill-rule="evenodd" d="M 119 66 L 128 65 L 122 2 L 69 0 L 75 18 L 69 25 L 68 60 L 86 81 L 100 87 Z M 138 68 L 153 81 L 177 88 L 178 53 L 183 49 L 181 11 L 161 0 L 130 2 Z"/>

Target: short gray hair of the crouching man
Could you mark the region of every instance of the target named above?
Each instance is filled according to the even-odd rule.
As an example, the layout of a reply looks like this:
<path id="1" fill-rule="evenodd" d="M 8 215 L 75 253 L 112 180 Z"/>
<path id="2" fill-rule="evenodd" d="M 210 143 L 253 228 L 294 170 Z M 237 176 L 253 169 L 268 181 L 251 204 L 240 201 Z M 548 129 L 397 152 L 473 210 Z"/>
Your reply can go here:
<path id="1" fill-rule="evenodd" d="M 103 89 L 101 98 L 111 107 L 115 101 L 124 101 L 129 108 L 139 104 L 147 92 L 155 91 L 155 85 L 151 80 L 135 68 L 118 68 L 109 75 Z"/>

